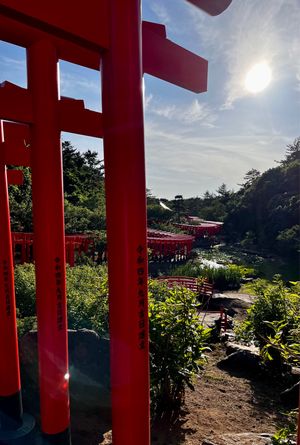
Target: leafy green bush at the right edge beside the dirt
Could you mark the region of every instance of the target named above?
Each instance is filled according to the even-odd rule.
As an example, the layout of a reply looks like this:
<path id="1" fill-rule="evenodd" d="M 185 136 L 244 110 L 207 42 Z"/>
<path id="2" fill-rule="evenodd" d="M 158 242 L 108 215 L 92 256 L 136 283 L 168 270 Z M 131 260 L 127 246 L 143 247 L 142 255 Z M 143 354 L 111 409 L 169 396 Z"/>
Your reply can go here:
<path id="1" fill-rule="evenodd" d="M 272 282 L 256 280 L 246 286 L 257 299 L 236 328 L 237 337 L 257 343 L 263 357 L 275 361 L 275 367 L 300 363 L 300 285 L 290 285 L 275 276 Z"/>

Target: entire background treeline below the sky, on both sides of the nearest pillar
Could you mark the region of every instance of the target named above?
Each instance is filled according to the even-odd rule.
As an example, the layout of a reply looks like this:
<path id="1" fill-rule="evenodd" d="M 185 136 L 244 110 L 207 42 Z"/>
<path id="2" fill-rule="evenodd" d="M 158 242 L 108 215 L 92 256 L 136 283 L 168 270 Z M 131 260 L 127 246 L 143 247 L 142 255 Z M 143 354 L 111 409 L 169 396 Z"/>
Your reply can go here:
<path id="1" fill-rule="evenodd" d="M 66 233 L 105 229 L 103 163 L 96 152 L 81 153 L 70 142 L 63 142 L 62 152 Z M 32 230 L 31 175 L 30 169 L 23 170 L 24 184 L 10 187 L 14 231 Z M 229 243 L 294 257 L 300 251 L 299 184 L 300 138 L 287 146 L 285 158 L 276 167 L 262 174 L 249 170 L 237 192 L 221 184 L 216 193 L 207 191 L 203 197 L 188 199 L 177 195 L 168 201 L 157 199 L 148 190 L 148 224 L 174 231 L 170 223 L 186 215 L 224 221 L 221 236 Z"/>

